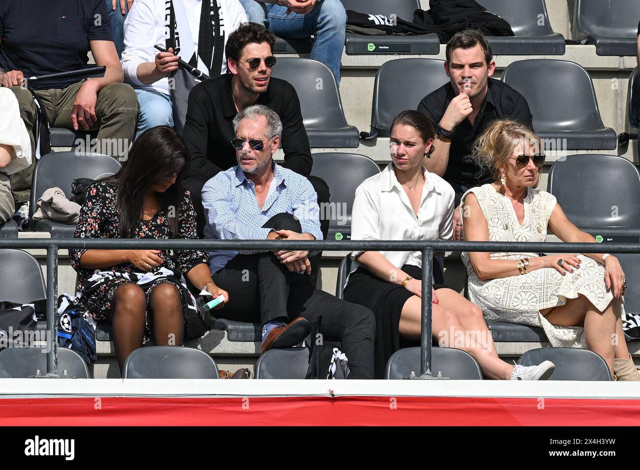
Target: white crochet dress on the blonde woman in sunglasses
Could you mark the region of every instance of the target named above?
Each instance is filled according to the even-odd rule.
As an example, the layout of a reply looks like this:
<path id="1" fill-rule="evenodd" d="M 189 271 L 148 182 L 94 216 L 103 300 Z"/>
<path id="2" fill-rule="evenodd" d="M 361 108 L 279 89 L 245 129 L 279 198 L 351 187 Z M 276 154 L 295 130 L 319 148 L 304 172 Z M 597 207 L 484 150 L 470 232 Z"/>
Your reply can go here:
<path id="1" fill-rule="evenodd" d="M 524 220 L 518 217 L 511 201 L 490 184 L 475 187 L 473 192 L 483 211 L 492 242 L 544 242 L 547 224 L 556 206 L 556 197 L 546 191 L 529 188 L 524 198 Z M 492 260 L 536 258 L 537 253 L 491 253 Z M 536 269 L 510 278 L 481 281 L 477 278 L 468 253 L 462 254 L 469 276 L 469 299 L 479 306 L 488 320 L 541 326 L 552 346 L 585 347 L 582 327 L 552 325 L 541 309 L 564 305 L 567 299 L 584 295 L 600 311 L 613 299 L 604 283 L 604 265 L 579 255 L 582 264 L 573 273 L 562 276 L 554 268 Z M 624 311 L 623 311 L 624 314 Z"/>

